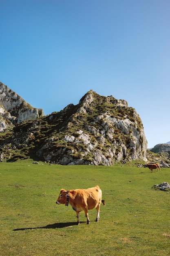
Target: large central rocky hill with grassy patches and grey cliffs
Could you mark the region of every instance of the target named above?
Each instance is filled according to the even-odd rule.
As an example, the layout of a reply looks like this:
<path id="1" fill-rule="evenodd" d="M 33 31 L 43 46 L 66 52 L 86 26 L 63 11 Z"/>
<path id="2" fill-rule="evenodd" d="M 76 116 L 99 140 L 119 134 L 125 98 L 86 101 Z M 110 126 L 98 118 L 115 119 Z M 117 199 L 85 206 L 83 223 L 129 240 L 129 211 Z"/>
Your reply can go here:
<path id="1" fill-rule="evenodd" d="M 10 109 L 10 104 L 6 108 Z M 147 161 L 146 150 L 147 140 L 136 110 L 125 100 L 100 96 L 93 90 L 77 105 L 22 121 L 0 137 L 3 161 L 32 157 L 54 164 L 110 166 L 132 159 Z"/>

